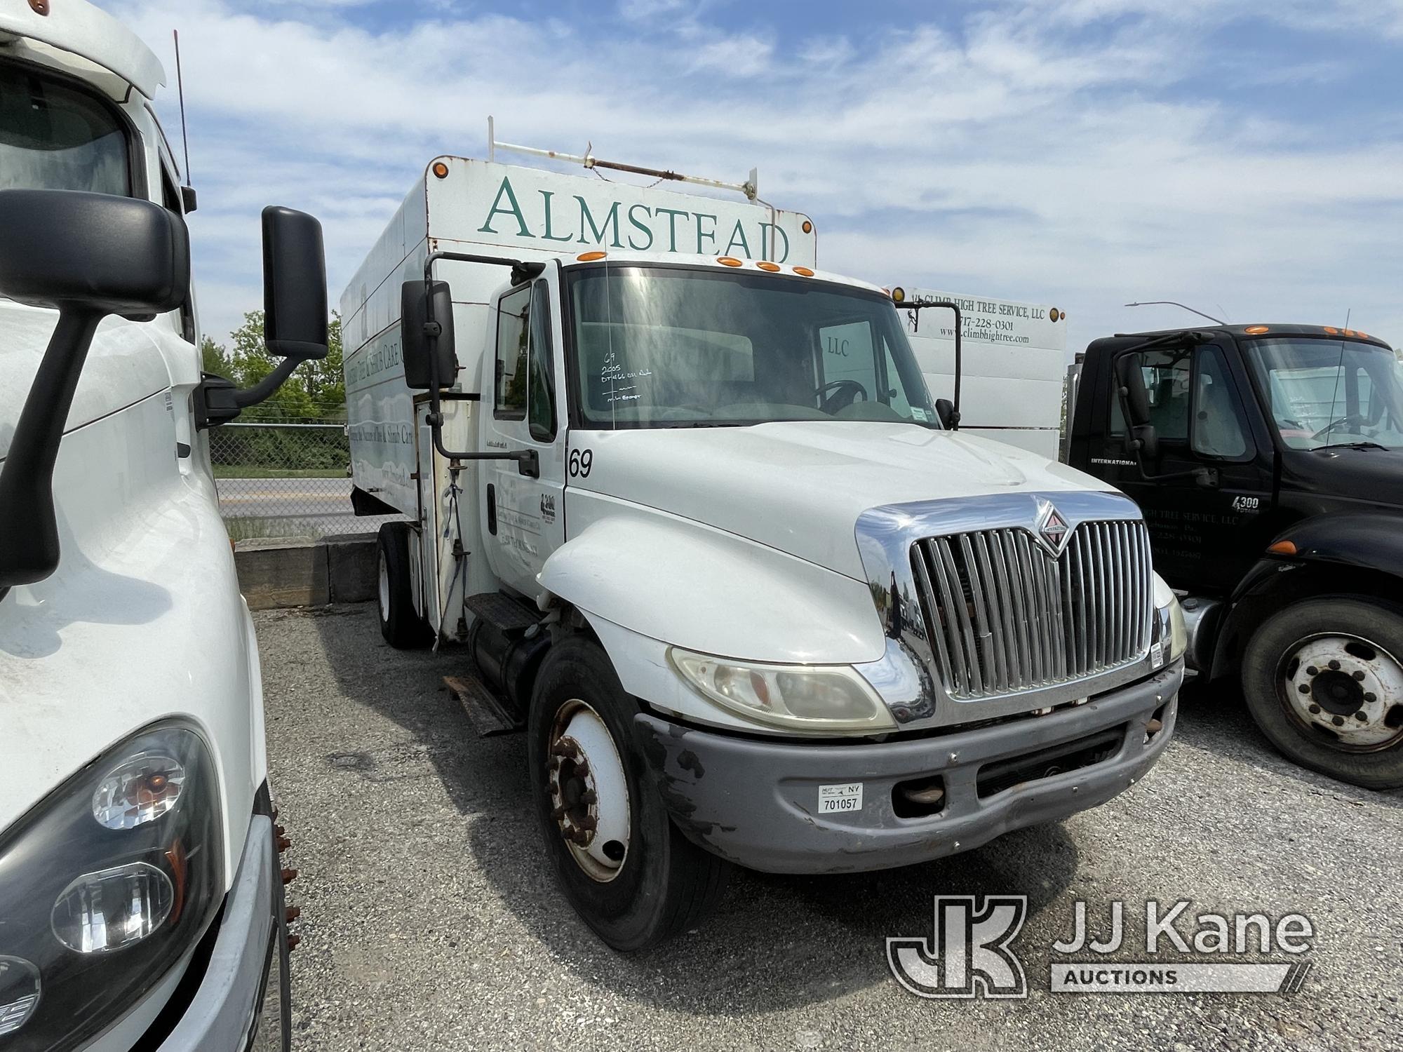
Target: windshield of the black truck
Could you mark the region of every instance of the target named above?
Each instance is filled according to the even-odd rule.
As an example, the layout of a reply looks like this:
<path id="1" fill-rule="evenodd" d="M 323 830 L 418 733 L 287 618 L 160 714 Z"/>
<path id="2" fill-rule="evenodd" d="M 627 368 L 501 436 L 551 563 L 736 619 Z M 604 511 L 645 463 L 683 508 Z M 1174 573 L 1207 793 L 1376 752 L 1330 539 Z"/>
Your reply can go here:
<path id="1" fill-rule="evenodd" d="M 1291 449 L 1372 442 L 1403 449 L 1403 365 L 1355 339 L 1247 345 L 1271 418 Z"/>

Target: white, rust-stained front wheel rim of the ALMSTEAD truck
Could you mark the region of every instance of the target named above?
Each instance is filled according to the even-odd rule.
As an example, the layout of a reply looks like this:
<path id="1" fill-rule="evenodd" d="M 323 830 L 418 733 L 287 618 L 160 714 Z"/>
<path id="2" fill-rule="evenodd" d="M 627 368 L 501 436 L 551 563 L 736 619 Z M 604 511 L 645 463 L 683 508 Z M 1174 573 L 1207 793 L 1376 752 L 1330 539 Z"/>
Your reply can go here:
<path id="1" fill-rule="evenodd" d="M 556 714 L 547 743 L 551 818 L 575 864 L 607 884 L 629 857 L 629 780 L 609 727 L 586 701 Z"/>

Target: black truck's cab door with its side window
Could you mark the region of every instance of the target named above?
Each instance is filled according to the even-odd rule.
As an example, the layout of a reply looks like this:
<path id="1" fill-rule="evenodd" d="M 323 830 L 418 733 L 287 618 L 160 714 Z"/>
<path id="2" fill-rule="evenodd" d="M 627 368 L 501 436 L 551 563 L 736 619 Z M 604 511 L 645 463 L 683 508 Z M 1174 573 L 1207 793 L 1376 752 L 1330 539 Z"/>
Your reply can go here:
<path id="1" fill-rule="evenodd" d="M 1145 513 L 1155 569 L 1174 588 L 1230 592 L 1270 539 L 1274 452 L 1254 436 L 1254 403 L 1236 345 L 1149 349 L 1139 359 L 1159 456 L 1145 478 L 1125 450 L 1125 421 L 1107 362 L 1099 384 L 1107 426 L 1090 442 L 1090 468 L 1125 491 Z M 1100 442 L 1100 449 L 1097 449 Z M 1194 468 L 1208 468 L 1202 485 Z M 1258 526 L 1258 520 L 1261 525 Z"/>

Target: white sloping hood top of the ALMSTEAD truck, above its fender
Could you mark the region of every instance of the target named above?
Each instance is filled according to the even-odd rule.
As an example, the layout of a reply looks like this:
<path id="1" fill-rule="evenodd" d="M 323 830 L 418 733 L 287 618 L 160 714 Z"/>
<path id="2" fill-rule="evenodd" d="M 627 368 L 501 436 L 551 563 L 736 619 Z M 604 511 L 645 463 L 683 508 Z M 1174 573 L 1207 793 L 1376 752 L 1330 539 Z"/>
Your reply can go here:
<path id="1" fill-rule="evenodd" d="M 589 431 L 572 432 L 570 445 L 592 450 L 589 474 L 571 478 L 572 487 L 706 523 L 857 581 L 866 578 L 853 530 L 868 508 L 1111 488 L 1035 453 L 911 424 Z"/>

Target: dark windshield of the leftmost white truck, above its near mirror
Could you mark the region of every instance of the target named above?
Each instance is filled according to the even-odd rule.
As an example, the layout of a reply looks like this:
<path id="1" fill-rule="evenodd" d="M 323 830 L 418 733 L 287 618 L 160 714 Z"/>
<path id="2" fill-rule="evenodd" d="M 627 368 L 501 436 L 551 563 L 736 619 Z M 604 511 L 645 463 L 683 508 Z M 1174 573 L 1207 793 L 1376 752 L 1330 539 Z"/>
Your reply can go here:
<path id="1" fill-rule="evenodd" d="M 0 189 L 132 192 L 111 107 L 25 66 L 0 63 Z"/>

